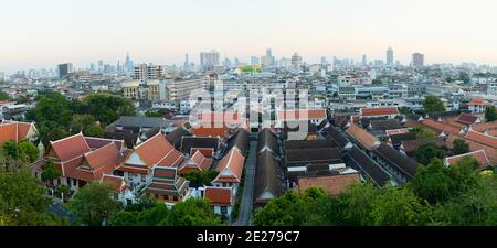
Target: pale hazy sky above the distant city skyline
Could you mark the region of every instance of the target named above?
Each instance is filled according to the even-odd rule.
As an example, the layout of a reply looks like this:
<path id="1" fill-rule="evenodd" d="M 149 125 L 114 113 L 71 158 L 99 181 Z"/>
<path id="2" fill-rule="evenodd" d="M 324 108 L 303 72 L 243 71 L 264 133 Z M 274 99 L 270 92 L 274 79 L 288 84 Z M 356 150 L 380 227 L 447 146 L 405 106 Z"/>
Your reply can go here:
<path id="1" fill-rule="evenodd" d="M 1 0 L 0 72 L 104 60 L 320 56 L 497 65 L 495 0 Z"/>

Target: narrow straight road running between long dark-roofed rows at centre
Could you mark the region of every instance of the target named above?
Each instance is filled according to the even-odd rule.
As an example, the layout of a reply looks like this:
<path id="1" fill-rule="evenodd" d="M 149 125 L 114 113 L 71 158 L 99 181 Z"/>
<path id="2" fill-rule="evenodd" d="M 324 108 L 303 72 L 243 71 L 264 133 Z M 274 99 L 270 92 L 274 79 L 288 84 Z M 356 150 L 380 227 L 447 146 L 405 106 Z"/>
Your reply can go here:
<path id="1" fill-rule="evenodd" d="M 233 223 L 233 226 L 251 225 L 256 160 L 257 160 L 257 141 L 251 141 L 251 149 L 248 158 L 246 159 L 245 163 L 245 182 L 243 186 L 243 195 L 240 203 L 239 219 L 236 219 Z"/>

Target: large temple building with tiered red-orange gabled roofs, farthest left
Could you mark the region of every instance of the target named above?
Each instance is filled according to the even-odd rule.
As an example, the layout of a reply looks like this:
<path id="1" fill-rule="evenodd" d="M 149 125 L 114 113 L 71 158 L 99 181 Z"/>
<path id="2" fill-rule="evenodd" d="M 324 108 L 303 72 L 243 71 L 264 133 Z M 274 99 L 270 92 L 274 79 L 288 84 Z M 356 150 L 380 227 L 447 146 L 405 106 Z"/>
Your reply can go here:
<path id="1" fill-rule="evenodd" d="M 88 182 L 113 182 L 116 198 L 124 204 L 134 201 L 123 176 L 115 175 L 116 168 L 127 158 L 129 150 L 123 149 L 121 140 L 87 138 L 77 133 L 57 141 L 51 141 L 42 159 L 33 163 L 33 174 L 41 179 L 43 165 L 52 160 L 61 176 L 51 186 L 67 185 L 72 193 Z"/>

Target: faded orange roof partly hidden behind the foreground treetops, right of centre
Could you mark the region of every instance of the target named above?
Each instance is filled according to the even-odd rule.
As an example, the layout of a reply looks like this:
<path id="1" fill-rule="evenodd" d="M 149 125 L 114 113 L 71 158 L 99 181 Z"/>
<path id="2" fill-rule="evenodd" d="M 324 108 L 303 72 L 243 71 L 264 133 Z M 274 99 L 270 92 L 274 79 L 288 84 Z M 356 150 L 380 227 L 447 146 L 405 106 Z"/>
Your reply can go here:
<path id="1" fill-rule="evenodd" d="M 331 195 L 343 193 L 347 186 L 360 182 L 358 173 L 345 175 L 327 175 L 316 177 L 298 177 L 298 190 L 305 191 L 311 186 L 322 187 Z"/>

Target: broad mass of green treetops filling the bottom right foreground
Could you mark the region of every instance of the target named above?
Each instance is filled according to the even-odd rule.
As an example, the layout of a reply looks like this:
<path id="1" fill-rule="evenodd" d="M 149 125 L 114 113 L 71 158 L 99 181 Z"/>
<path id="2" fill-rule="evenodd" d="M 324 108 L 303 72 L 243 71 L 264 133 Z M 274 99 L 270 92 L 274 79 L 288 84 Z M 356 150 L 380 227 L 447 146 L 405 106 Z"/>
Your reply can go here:
<path id="1" fill-rule="evenodd" d="M 288 191 L 256 209 L 254 225 L 497 225 L 497 175 L 477 173 L 477 166 L 472 158 L 450 168 L 435 159 L 401 187 L 358 183 L 339 196 L 320 188 Z"/>

